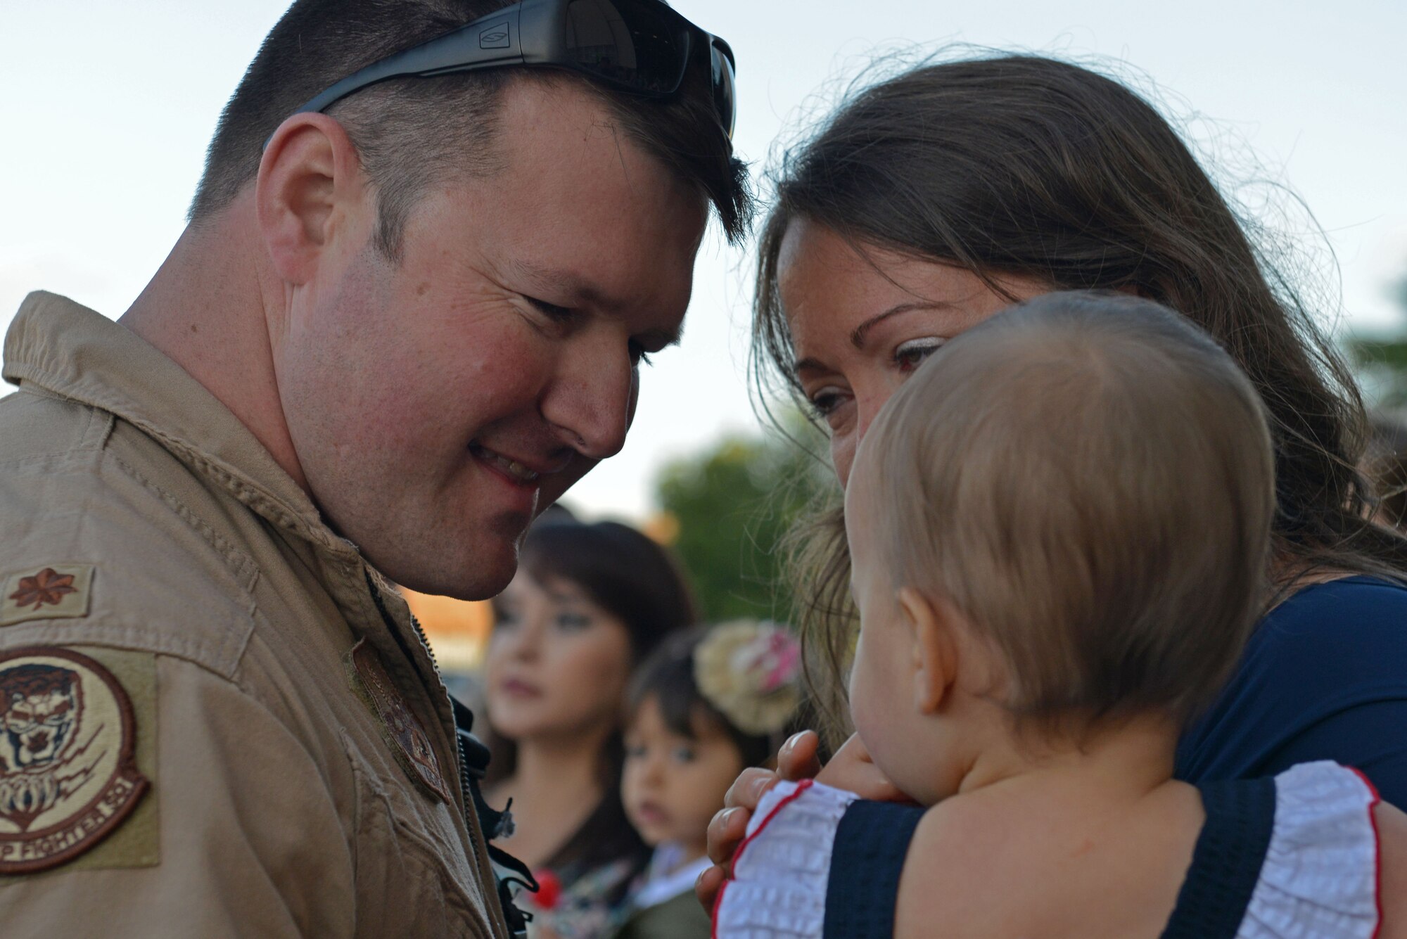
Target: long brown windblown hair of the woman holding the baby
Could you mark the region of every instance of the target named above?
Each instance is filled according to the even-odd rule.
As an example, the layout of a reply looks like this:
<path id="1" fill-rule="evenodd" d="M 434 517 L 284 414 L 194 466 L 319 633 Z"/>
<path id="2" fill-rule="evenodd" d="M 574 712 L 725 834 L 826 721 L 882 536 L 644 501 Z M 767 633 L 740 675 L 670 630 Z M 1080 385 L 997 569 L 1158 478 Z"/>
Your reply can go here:
<path id="1" fill-rule="evenodd" d="M 1265 401 L 1279 586 L 1324 569 L 1403 578 L 1407 540 L 1368 520 L 1346 364 L 1168 121 L 1119 82 L 1034 55 L 926 65 L 854 94 L 777 176 L 753 322 L 764 394 L 779 380 L 802 398 L 777 281 L 798 216 L 861 249 L 957 264 L 1000 294 L 1002 276 L 1133 291 L 1211 333 Z M 794 544 L 803 634 L 839 668 L 853 621 L 840 509 Z"/>

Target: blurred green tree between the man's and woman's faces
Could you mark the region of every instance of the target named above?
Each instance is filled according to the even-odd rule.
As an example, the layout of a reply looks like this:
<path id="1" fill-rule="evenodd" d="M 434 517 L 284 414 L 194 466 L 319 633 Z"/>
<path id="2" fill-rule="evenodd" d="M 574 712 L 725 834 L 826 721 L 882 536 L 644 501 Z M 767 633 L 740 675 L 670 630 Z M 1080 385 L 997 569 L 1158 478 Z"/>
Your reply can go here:
<path id="1" fill-rule="evenodd" d="M 678 524 L 674 548 L 709 621 L 788 616 L 782 537 L 834 486 L 817 434 L 799 417 L 788 426 L 792 439 L 732 434 L 660 472 L 656 496 Z"/>

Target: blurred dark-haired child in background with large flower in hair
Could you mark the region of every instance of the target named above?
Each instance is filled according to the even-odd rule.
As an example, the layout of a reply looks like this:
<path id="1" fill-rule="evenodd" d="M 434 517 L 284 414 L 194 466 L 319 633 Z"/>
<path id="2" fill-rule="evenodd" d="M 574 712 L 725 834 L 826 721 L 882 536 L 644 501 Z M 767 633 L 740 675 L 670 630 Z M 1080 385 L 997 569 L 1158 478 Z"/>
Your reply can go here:
<path id="1" fill-rule="evenodd" d="M 708 939 L 694 881 L 709 818 L 746 766 L 761 766 L 801 700 L 801 648 L 782 627 L 725 623 L 667 641 L 629 692 L 620 797 L 654 848 L 618 939 Z"/>

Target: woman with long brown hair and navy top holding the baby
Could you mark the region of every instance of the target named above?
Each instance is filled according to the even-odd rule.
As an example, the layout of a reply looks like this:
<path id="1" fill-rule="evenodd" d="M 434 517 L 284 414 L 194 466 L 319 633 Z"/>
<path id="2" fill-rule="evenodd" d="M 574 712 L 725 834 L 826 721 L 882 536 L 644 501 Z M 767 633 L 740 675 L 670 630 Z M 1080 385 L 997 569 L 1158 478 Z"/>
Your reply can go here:
<path id="1" fill-rule="evenodd" d="M 1186 782 L 1358 766 L 1407 804 L 1407 538 L 1373 519 L 1363 406 L 1292 273 L 1261 250 L 1186 143 L 1119 82 L 1031 55 L 912 69 L 860 90 L 787 153 L 761 238 L 754 375 L 812 410 L 844 485 L 870 422 L 953 336 L 1013 301 L 1096 288 L 1209 332 L 1265 401 L 1276 464 L 1272 588 Z M 840 509 L 798 533 L 809 641 L 836 673 L 854 634 Z M 782 776 L 813 775 L 815 738 Z M 854 739 L 827 772 L 895 796 Z M 756 807 L 771 776 L 736 786 Z M 747 812 L 715 820 L 726 859 Z M 709 872 L 701 895 L 722 880 Z"/>

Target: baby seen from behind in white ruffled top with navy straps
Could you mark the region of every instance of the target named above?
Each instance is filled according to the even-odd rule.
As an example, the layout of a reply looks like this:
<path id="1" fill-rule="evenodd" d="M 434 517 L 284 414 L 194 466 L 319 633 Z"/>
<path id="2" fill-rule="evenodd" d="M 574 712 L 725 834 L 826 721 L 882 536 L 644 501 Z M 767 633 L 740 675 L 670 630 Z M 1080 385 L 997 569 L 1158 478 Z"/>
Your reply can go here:
<path id="1" fill-rule="evenodd" d="M 715 935 L 1407 933 L 1407 817 L 1354 770 L 1172 780 L 1272 600 L 1273 512 L 1255 391 L 1172 311 L 1051 294 L 948 342 L 846 492 L 851 715 L 927 808 L 778 784 Z"/>

